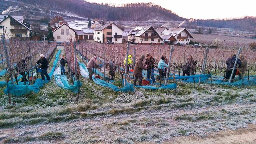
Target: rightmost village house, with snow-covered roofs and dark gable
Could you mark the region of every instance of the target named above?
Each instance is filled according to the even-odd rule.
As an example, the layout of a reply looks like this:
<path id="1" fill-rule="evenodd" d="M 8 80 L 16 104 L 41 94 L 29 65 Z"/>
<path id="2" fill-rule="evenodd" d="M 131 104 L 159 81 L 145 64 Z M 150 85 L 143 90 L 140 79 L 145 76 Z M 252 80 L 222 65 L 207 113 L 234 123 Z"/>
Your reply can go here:
<path id="1" fill-rule="evenodd" d="M 186 28 L 176 27 L 170 28 L 163 36 L 164 41 L 173 44 L 189 44 L 193 39 L 192 35 L 186 30 Z"/>

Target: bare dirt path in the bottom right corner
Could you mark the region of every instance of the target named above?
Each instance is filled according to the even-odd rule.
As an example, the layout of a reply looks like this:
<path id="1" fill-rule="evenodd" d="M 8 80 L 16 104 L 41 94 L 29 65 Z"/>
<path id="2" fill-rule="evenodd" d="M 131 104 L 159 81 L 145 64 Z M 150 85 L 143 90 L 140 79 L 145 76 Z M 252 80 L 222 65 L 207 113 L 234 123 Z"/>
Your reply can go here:
<path id="1" fill-rule="evenodd" d="M 206 138 L 195 136 L 182 136 L 174 138 L 175 141 L 166 141 L 164 144 L 256 144 L 256 125 L 238 130 L 223 130 L 212 133 Z"/>

